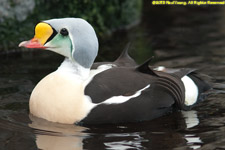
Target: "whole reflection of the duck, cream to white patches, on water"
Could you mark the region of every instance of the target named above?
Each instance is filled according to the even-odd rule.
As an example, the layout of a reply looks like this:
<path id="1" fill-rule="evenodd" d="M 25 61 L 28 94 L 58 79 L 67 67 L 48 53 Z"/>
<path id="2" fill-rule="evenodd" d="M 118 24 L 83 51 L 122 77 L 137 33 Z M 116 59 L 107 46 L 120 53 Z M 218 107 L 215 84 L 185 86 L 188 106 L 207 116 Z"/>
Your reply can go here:
<path id="1" fill-rule="evenodd" d="M 36 135 L 36 144 L 43 150 L 83 150 L 83 149 L 142 149 L 172 148 L 185 145 L 200 148 L 202 141 L 196 134 L 173 133 L 170 129 L 189 130 L 199 124 L 196 111 L 177 112 L 153 121 L 139 124 L 104 125 L 82 127 L 53 123 L 30 115 L 29 126 Z M 174 120 L 177 120 L 174 121 Z M 183 122 L 182 124 L 180 124 Z M 166 127 L 165 127 L 166 125 Z M 169 127 L 168 127 L 169 126 Z M 159 138 L 161 140 L 159 140 Z M 164 142 L 162 142 L 162 140 Z M 167 141 L 167 142 L 165 142 Z"/>

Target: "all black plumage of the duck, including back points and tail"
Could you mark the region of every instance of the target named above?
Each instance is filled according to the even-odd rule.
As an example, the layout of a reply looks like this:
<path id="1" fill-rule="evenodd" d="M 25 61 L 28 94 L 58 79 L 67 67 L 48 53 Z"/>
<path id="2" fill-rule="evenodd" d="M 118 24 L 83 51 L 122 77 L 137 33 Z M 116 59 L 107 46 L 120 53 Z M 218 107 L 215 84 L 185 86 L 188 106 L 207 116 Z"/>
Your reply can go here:
<path id="1" fill-rule="evenodd" d="M 92 69 L 103 64 L 115 67 L 97 74 L 86 86 L 85 95 L 99 104 L 113 96 L 131 96 L 150 85 L 135 98 L 119 104 L 99 104 L 80 123 L 117 124 L 141 122 L 163 116 L 173 110 L 187 110 L 202 100 L 202 93 L 210 89 L 194 69 L 166 69 L 155 71 L 149 67 L 150 58 L 137 66 L 128 55 L 127 48 L 113 63 L 95 63 Z M 185 106 L 185 87 L 181 78 L 189 76 L 199 90 L 198 100 L 192 106 Z"/>

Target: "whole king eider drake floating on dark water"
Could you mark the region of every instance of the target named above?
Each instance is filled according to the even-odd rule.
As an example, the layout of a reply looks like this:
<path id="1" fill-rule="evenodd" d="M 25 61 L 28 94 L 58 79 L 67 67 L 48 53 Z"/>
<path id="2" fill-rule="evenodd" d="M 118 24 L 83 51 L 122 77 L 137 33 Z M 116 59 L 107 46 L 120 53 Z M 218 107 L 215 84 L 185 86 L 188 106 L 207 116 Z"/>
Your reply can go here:
<path id="1" fill-rule="evenodd" d="M 30 97 L 30 112 L 48 121 L 73 124 L 151 120 L 195 105 L 209 89 L 190 69 L 167 72 L 140 66 L 126 51 L 113 63 L 94 63 L 98 39 L 83 19 L 63 18 L 36 25 L 35 36 L 20 47 L 47 49 L 65 56 Z"/>

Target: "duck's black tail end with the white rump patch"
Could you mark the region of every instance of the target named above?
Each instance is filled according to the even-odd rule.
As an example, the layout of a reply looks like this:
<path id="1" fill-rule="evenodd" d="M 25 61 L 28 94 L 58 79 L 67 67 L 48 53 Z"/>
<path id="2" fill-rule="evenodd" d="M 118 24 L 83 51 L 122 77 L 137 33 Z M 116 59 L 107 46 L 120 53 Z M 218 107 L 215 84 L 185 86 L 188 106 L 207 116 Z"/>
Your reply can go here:
<path id="1" fill-rule="evenodd" d="M 180 107 L 182 110 L 190 110 L 197 103 L 203 101 L 210 94 L 210 89 L 214 87 L 212 78 L 199 73 L 196 69 L 170 69 L 160 66 L 154 70 L 163 71 L 181 79 L 185 91 L 185 101 Z"/>

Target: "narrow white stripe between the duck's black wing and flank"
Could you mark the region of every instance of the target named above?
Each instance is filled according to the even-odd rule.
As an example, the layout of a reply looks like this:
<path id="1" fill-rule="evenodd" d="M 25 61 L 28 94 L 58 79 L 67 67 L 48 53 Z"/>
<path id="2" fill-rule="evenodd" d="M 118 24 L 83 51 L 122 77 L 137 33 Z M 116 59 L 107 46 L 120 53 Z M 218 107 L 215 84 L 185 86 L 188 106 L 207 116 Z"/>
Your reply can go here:
<path id="1" fill-rule="evenodd" d="M 125 103 L 126 101 L 130 100 L 131 98 L 135 98 L 141 95 L 141 92 L 144 91 L 145 89 L 149 88 L 150 84 L 147 85 L 146 87 L 138 90 L 135 94 L 131 95 L 131 96 L 113 96 L 107 100 L 105 100 L 102 103 L 99 104 L 121 104 L 121 103 Z"/>

